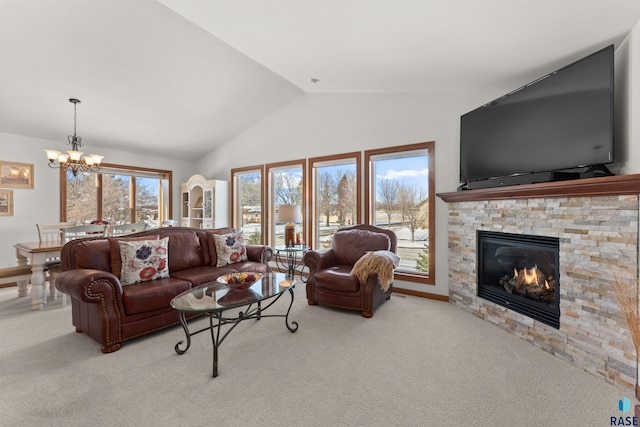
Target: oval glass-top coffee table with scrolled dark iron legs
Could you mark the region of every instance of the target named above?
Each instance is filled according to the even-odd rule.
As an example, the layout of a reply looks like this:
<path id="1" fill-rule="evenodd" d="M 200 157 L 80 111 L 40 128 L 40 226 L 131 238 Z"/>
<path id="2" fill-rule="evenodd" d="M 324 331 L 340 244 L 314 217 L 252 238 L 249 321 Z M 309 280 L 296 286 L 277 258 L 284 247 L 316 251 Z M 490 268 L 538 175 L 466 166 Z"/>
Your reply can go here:
<path id="1" fill-rule="evenodd" d="M 229 333 L 242 321 L 260 320 L 263 317 L 283 317 L 289 331 L 298 330 L 298 322 L 289 322 L 289 312 L 293 306 L 295 280 L 283 273 L 266 273 L 264 277 L 244 290 L 231 290 L 224 283 L 211 282 L 181 293 L 171 300 L 171 307 L 180 313 L 180 323 L 187 343 L 176 344 L 178 354 L 184 354 L 191 347 L 191 337 L 200 332 L 210 331 L 213 343 L 213 376 L 218 376 L 218 348 Z M 284 294 L 289 293 L 291 302 L 285 314 L 265 314 Z M 265 305 L 266 304 L 266 305 Z M 236 312 L 235 309 L 239 309 Z M 187 316 L 204 313 L 209 317 L 209 326 L 189 332 Z M 232 313 L 237 313 L 233 315 Z M 214 319 L 216 321 L 214 321 Z M 230 325 L 223 331 L 223 326 Z"/>

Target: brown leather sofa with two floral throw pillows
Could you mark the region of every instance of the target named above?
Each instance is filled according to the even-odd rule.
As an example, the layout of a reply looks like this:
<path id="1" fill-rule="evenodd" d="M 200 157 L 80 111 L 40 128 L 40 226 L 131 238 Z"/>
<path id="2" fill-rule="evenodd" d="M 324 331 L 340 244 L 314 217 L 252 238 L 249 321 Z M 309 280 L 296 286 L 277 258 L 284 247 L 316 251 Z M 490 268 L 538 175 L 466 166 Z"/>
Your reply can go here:
<path id="1" fill-rule="evenodd" d="M 56 288 L 71 297 L 76 331 L 99 342 L 103 353 L 110 353 L 120 349 L 124 341 L 179 323 L 178 312 L 169 303 L 181 292 L 227 273 L 270 272 L 268 262 L 273 252 L 264 245 L 246 245 L 248 261 L 216 267 L 213 234 L 233 231 L 232 228 L 166 227 L 122 237 L 78 239 L 65 244 L 61 254 L 62 272 L 56 279 Z M 112 271 L 114 241 L 156 236 L 160 239 L 169 237 L 170 277 L 122 286 L 118 275 Z"/>

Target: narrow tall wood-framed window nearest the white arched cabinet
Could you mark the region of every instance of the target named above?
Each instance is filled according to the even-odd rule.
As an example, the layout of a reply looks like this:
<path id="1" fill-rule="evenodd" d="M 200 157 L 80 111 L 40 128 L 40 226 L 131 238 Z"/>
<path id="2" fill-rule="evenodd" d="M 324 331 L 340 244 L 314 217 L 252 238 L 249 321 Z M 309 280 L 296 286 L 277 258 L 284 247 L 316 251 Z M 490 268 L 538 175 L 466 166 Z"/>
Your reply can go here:
<path id="1" fill-rule="evenodd" d="M 263 166 L 231 170 L 232 224 L 249 244 L 263 242 L 263 170 Z"/>

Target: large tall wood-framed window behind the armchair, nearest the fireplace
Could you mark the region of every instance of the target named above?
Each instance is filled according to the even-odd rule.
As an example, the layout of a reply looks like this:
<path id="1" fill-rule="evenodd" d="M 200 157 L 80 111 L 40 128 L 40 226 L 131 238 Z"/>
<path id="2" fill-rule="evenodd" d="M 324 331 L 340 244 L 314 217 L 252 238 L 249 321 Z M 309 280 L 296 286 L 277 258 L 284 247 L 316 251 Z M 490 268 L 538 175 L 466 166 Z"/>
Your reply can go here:
<path id="1" fill-rule="evenodd" d="M 365 152 L 366 221 L 398 236 L 403 280 L 435 279 L 433 159 L 433 142 Z"/>

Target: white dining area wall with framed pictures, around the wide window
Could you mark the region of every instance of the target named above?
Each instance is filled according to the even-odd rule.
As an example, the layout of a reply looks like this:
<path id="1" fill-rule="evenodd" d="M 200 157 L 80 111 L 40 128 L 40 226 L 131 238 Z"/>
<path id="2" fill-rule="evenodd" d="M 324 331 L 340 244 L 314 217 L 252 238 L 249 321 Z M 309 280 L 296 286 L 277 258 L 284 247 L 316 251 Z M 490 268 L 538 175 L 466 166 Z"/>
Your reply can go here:
<path id="1" fill-rule="evenodd" d="M 0 268 L 16 265 L 15 243 L 38 241 L 37 223 L 60 221 L 59 171 L 47 166 L 43 150 L 63 150 L 64 143 L 64 140 L 50 141 L 0 133 L 1 160 L 34 165 L 34 188 L 13 189 L 13 216 L 0 216 Z M 173 218 L 179 219 L 179 184 L 193 173 L 193 162 L 93 146 L 91 149 L 105 155 L 107 163 L 173 170 Z"/>

